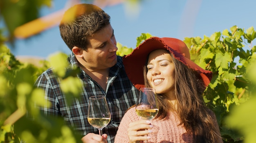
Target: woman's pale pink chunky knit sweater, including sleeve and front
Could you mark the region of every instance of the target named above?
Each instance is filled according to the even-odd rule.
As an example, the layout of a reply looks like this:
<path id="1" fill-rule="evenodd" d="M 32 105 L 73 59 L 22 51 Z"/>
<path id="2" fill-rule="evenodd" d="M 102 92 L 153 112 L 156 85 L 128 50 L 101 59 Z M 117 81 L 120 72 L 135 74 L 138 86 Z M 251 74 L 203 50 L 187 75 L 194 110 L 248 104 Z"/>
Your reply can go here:
<path id="1" fill-rule="evenodd" d="M 213 117 L 215 117 L 214 114 Z M 130 108 L 119 125 L 115 143 L 129 143 L 128 126 L 131 122 L 137 120 L 139 120 L 139 117 L 135 113 L 135 107 Z M 218 128 L 216 117 L 213 120 Z M 153 133 L 148 134 L 151 137 L 148 143 L 193 143 L 193 134 L 187 133 L 183 125 L 179 126 L 180 120 L 173 112 L 168 113 L 165 119 L 153 119 L 151 124 L 154 127 L 152 129 Z M 217 143 L 223 143 L 222 139 L 220 138 Z"/>

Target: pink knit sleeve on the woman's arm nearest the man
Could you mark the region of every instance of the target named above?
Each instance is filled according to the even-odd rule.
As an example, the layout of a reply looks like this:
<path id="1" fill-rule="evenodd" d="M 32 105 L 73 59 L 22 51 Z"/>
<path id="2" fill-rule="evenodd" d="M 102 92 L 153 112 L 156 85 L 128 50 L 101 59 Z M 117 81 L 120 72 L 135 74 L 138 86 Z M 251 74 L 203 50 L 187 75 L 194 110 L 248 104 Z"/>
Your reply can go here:
<path id="1" fill-rule="evenodd" d="M 135 107 L 130 108 L 125 114 L 124 117 L 121 120 L 121 123 L 118 127 L 117 134 L 115 137 L 115 143 L 129 143 L 129 137 L 127 129 L 129 127 L 129 124 L 133 121 L 139 120 L 139 117 L 137 116 L 135 112 Z"/>

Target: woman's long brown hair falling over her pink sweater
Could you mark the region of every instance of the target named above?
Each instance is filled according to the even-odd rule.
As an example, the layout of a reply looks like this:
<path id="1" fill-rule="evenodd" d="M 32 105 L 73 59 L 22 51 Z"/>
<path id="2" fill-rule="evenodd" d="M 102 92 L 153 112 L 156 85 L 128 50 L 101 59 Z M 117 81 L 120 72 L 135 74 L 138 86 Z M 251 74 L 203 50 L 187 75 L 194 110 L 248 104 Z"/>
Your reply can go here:
<path id="1" fill-rule="evenodd" d="M 170 52 L 169 52 L 170 53 Z M 184 124 L 186 131 L 193 133 L 195 143 L 214 143 L 219 138 L 213 124 L 209 108 L 204 103 L 205 89 L 201 76 L 173 57 L 175 66 L 175 107 L 168 102 L 163 94 L 157 94 L 159 112 L 155 119 L 164 119 L 171 110 L 180 117 L 180 125 Z M 148 59 L 146 60 L 148 63 Z M 146 74 L 148 69 L 144 66 L 145 86 L 150 87 Z"/>

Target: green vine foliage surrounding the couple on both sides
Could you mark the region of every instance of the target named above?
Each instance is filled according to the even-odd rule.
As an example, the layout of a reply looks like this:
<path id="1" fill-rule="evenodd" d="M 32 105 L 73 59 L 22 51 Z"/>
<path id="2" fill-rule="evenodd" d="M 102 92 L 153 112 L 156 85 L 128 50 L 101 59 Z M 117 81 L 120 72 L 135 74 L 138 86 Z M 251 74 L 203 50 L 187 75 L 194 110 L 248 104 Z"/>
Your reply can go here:
<path id="1" fill-rule="evenodd" d="M 6 2 L 7 0 L 5 0 Z M 50 0 L 33 1 L 38 7 L 49 4 Z M 2 1 L 0 10 L 2 12 Z M 36 3 L 38 2 L 38 3 Z M 45 2 L 45 3 L 43 3 Z M 31 4 L 32 6 L 34 6 Z M 6 13 L 5 13 L 6 14 Z M 37 17 L 31 14 L 23 22 Z M 67 56 L 64 53 L 50 55 L 47 60 L 19 60 L 10 52 L 6 41 L 15 40 L 13 32 L 18 22 L 10 23 L 5 36 L 0 30 L 0 141 L 1 143 L 76 143 L 80 138 L 72 129 L 63 124 L 62 119 L 45 118 L 33 108 L 36 100 L 43 103 L 43 91 L 33 85 L 36 78 L 47 68 L 55 67 L 60 77 L 64 92 L 70 97 L 76 96 L 79 83 L 75 71 L 66 72 Z M 142 33 L 137 37 L 137 45 L 149 38 L 150 33 Z M 218 119 L 220 131 L 225 143 L 254 143 L 256 141 L 256 38 L 254 27 L 247 29 L 231 26 L 220 29 L 209 37 L 185 37 L 191 59 L 213 72 L 213 79 L 204 92 L 207 106 Z M 117 54 L 129 54 L 133 48 L 117 44 Z M 135 48 L 135 47 L 134 47 Z M 63 61 L 63 62 L 59 62 Z M 27 112 L 36 119 L 27 118 Z"/>

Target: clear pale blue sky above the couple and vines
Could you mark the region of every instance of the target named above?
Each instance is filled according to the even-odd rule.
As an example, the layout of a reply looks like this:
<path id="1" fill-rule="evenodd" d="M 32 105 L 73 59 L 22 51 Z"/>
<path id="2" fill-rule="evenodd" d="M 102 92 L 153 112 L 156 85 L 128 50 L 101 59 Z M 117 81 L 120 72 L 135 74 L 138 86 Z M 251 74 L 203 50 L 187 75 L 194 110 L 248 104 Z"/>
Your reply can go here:
<path id="1" fill-rule="evenodd" d="M 53 2 L 51 8 L 42 9 L 42 16 L 63 9 L 67 0 Z M 125 4 L 103 10 L 111 17 L 117 42 L 135 48 L 141 33 L 184 40 L 184 37 L 210 37 L 234 25 L 245 30 L 256 28 L 255 6 L 255 0 L 143 0 L 135 14 L 136 9 L 127 11 Z M 71 52 L 62 41 L 58 26 L 29 39 L 18 39 L 15 45 L 9 47 L 16 56 L 47 58 L 56 52 Z"/>

